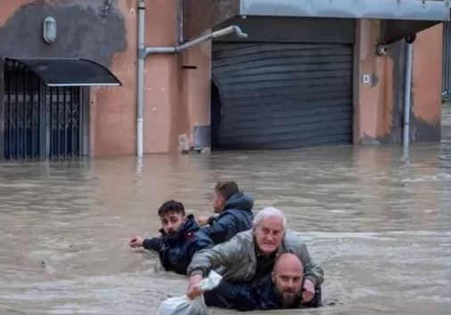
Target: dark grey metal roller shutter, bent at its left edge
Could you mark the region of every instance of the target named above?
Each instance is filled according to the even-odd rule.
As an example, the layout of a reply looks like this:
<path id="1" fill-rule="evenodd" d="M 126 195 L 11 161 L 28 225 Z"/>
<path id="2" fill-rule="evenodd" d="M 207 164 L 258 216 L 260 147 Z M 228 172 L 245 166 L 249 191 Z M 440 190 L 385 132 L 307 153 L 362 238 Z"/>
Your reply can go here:
<path id="1" fill-rule="evenodd" d="M 350 144 L 352 52 L 350 44 L 215 43 L 221 122 L 213 145 Z"/>

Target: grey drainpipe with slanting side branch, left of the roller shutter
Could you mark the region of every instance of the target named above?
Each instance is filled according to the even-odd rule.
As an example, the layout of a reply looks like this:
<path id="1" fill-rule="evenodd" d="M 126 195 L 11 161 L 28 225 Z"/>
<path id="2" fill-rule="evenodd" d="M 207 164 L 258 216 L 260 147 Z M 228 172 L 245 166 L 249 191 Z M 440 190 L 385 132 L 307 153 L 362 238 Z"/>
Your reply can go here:
<path id="1" fill-rule="evenodd" d="M 225 29 L 219 29 L 210 32 L 204 36 L 189 40 L 179 46 L 162 46 L 162 47 L 145 47 L 144 48 L 144 0 L 140 0 L 138 4 L 138 70 L 137 70 L 137 121 L 136 121 L 136 155 L 138 158 L 143 157 L 143 104 L 144 104 L 144 59 L 150 54 L 177 54 L 185 49 L 199 45 L 212 38 L 223 37 L 228 34 L 235 34 L 240 38 L 246 38 L 247 34 L 242 29 L 233 25 Z"/>

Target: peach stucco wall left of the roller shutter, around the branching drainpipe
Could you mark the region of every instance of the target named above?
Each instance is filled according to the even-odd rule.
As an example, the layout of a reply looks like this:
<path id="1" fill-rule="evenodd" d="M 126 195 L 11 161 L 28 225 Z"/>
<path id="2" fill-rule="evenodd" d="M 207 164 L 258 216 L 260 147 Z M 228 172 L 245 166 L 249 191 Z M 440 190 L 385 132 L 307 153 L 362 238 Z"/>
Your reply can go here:
<path id="1" fill-rule="evenodd" d="M 42 4 L 59 4 L 46 0 Z M 0 26 L 22 5 L 36 0 L 2 4 Z M 92 156 L 133 154 L 136 150 L 136 63 L 138 0 L 119 0 L 127 46 L 114 54 L 109 69 L 122 87 L 91 87 L 89 146 Z M 144 46 L 177 45 L 177 0 L 147 0 Z M 120 34 L 121 35 L 121 34 Z M 178 136 L 192 137 L 193 125 L 209 124 L 210 44 L 182 54 L 158 54 L 144 65 L 143 152 L 176 151 Z M 182 65 L 197 70 L 182 70 Z"/>

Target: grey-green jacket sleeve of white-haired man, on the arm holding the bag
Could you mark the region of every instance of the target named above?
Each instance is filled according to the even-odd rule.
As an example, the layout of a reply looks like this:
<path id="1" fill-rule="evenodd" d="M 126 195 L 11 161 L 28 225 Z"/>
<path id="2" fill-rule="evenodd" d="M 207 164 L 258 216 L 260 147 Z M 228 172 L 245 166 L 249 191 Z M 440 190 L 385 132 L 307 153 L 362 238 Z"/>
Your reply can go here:
<path id="1" fill-rule="evenodd" d="M 240 236 L 234 236 L 226 243 L 195 253 L 186 274 L 191 276 L 195 271 L 196 273 L 201 272 L 205 277 L 211 269 L 221 265 L 227 267 L 236 261 L 242 261 L 245 253 L 242 251 L 241 242 Z"/>

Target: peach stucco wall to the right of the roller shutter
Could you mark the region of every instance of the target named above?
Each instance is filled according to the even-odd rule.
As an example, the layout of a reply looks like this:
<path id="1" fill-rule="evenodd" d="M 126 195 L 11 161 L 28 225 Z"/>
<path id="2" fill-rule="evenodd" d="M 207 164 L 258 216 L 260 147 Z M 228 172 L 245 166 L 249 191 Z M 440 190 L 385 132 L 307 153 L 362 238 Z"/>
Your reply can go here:
<path id="1" fill-rule="evenodd" d="M 401 140 L 406 45 L 401 40 L 389 46 L 388 55 L 376 55 L 380 29 L 380 21 L 357 22 L 353 138 L 356 144 Z M 414 41 L 412 111 L 416 120 L 411 128 L 413 141 L 416 132 L 422 134 L 422 139 L 436 140 L 441 108 L 441 38 L 439 24 L 423 30 Z M 370 85 L 363 84 L 364 74 L 371 76 Z"/>

